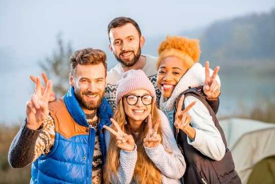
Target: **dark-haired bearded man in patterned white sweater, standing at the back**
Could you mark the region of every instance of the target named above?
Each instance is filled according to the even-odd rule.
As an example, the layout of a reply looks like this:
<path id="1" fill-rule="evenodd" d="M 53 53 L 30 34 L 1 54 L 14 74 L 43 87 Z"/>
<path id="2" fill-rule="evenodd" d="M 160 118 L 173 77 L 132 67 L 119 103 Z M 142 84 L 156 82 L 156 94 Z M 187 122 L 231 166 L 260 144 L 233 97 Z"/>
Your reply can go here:
<path id="1" fill-rule="evenodd" d="M 116 107 L 116 83 L 122 79 L 124 72 L 134 69 L 142 70 L 153 83 L 157 104 L 160 98 L 160 90 L 157 87 L 157 57 L 141 55 L 144 37 L 135 20 L 129 17 L 116 17 L 108 25 L 109 49 L 119 62 L 107 72 L 107 87 L 105 97 L 109 104 Z"/>

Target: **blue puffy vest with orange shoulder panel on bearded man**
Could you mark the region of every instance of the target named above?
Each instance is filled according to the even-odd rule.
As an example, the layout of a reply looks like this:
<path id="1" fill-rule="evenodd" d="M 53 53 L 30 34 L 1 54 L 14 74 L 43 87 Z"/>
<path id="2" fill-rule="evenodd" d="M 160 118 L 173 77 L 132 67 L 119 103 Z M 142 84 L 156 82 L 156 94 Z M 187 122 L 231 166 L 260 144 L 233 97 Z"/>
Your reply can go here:
<path id="1" fill-rule="evenodd" d="M 70 87 L 64 99 L 49 103 L 55 122 L 56 137 L 52 150 L 41 155 L 32 165 L 30 183 L 92 183 L 94 128 L 89 128 L 86 114 Z M 110 125 L 113 111 L 104 98 L 97 109 L 99 142 L 103 162 L 106 159 L 103 125 Z"/>

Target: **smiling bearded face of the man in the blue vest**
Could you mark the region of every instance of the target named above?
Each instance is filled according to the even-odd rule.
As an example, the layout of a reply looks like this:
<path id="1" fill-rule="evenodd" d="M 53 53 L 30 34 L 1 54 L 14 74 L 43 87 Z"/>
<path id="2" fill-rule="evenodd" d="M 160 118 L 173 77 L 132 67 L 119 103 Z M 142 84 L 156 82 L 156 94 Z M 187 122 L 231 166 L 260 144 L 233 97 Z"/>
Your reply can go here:
<path id="1" fill-rule="evenodd" d="M 105 73 L 103 63 L 78 64 L 74 77 L 70 76 L 74 95 L 85 113 L 92 113 L 101 104 L 106 86 Z"/>

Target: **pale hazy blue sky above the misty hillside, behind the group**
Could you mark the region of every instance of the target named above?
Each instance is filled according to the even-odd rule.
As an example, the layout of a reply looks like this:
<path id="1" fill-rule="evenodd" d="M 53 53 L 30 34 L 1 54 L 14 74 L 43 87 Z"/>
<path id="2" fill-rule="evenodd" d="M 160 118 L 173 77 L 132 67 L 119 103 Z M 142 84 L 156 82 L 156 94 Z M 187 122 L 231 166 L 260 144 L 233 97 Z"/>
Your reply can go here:
<path id="1" fill-rule="evenodd" d="M 269 13 L 274 8 L 274 0 L 1 1 L 0 122 L 20 122 L 26 116 L 25 104 L 34 89 L 29 76 L 42 72 L 38 61 L 57 48 L 58 33 L 74 51 L 87 47 L 104 50 L 110 69 L 117 61 L 109 51 L 107 25 L 117 16 L 136 20 L 146 44 L 146 38 L 174 35 L 252 13 Z"/>

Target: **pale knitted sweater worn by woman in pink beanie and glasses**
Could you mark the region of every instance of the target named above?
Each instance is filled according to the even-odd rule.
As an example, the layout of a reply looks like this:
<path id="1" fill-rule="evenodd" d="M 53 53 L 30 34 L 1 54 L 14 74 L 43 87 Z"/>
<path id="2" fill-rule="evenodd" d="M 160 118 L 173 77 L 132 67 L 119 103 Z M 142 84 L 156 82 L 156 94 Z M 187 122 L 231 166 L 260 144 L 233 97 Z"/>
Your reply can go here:
<path id="1" fill-rule="evenodd" d="M 151 158 L 155 166 L 161 171 L 163 183 L 180 183 L 179 178 L 183 176 L 186 168 L 185 160 L 174 139 L 165 114 L 160 110 L 159 114 L 162 120 L 163 145 L 159 144 L 159 146 L 154 148 L 147 148 L 144 146 L 144 148 L 148 157 Z M 107 131 L 105 133 L 107 149 L 109 148 L 110 134 L 111 133 Z M 164 148 L 167 151 L 165 151 Z M 133 151 L 120 150 L 120 166 L 117 168 L 118 177 L 113 175 L 116 179 L 116 183 L 136 183 L 133 179 L 136 162 L 136 145 Z"/>

